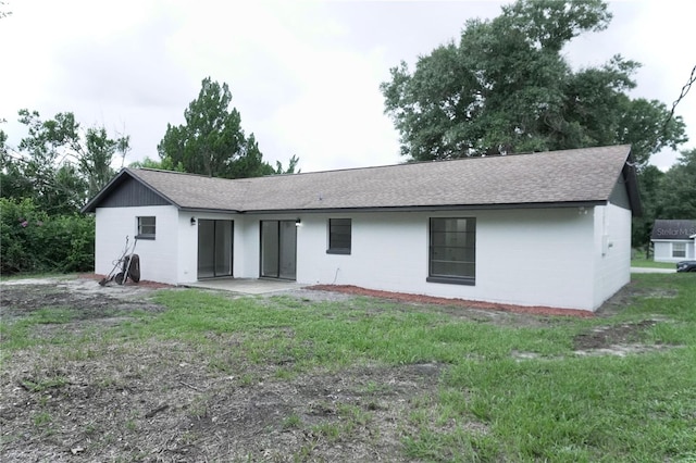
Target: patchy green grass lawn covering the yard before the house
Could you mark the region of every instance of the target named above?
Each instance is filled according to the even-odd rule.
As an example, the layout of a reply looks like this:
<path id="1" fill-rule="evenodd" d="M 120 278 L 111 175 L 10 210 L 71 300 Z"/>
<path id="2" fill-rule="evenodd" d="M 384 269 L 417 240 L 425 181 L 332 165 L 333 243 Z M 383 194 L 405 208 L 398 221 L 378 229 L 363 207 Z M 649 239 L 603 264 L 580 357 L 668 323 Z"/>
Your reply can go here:
<path id="1" fill-rule="evenodd" d="M 22 431 L 0 450 L 48 439 L 76 461 L 166 460 L 177 445 L 200 461 L 696 462 L 696 279 L 632 278 L 625 306 L 583 320 L 199 290 L 159 290 L 162 310 L 78 329 L 85 311 L 70 304 L 14 313 L 0 391 L 20 384 L 33 405 L 22 426 L 3 418 Z M 579 353 L 588 336 L 631 349 Z M 236 448 L 211 450 L 215 436 Z"/>

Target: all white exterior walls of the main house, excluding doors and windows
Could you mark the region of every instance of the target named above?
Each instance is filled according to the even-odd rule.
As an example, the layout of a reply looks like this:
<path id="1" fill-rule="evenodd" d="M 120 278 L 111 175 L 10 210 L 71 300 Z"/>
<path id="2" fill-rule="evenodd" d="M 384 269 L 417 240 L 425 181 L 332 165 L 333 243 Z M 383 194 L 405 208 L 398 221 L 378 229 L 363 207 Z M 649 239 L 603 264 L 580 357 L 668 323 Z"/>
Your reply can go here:
<path id="1" fill-rule="evenodd" d="M 142 279 L 187 284 L 198 279 L 198 221 L 234 223 L 233 275 L 258 278 L 260 221 L 301 218 L 297 281 L 520 305 L 596 310 L 629 281 L 631 212 L 596 208 L 450 212 L 220 214 L 171 205 L 97 210 L 97 273 L 121 255 L 137 216 L 157 217 L 154 240 L 140 240 Z M 190 218 L 196 218 L 196 225 Z M 476 218 L 473 286 L 426 281 L 431 217 Z M 351 253 L 326 253 L 328 218 L 351 218 Z"/>

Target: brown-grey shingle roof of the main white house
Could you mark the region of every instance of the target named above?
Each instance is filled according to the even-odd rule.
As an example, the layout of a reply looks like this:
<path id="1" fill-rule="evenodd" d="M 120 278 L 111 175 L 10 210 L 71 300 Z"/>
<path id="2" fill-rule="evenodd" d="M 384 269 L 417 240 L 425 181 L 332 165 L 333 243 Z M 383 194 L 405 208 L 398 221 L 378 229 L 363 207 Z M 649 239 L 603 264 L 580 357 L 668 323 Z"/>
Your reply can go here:
<path id="1" fill-rule="evenodd" d="M 237 212 L 600 203 L 622 173 L 633 182 L 630 193 L 635 187 L 630 152 L 614 146 L 235 180 L 129 168 L 120 176 L 135 177 L 183 209 Z M 108 193 L 109 186 L 84 211 L 92 212 Z M 632 196 L 639 211 L 637 190 Z"/>

